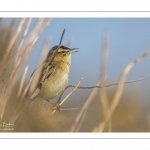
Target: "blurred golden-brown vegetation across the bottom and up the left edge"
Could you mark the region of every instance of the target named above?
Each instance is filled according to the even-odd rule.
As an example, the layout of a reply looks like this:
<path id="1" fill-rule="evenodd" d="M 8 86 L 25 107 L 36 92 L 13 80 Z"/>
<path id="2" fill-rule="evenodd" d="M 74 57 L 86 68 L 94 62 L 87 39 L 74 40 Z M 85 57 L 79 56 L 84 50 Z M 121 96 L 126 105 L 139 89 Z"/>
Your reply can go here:
<path id="1" fill-rule="evenodd" d="M 69 132 L 77 114 L 80 112 L 80 109 L 61 110 L 60 113 L 57 111 L 54 115 L 51 115 L 51 104 L 44 100 L 37 99 L 29 111 L 28 107 L 26 107 L 27 100 L 17 96 L 21 82 L 20 75 L 23 73 L 22 70 L 24 70 L 24 62 L 21 64 L 22 68 L 16 71 L 18 78 L 14 79 L 13 77 L 15 77 L 15 75 L 12 77 L 12 80 L 15 81 L 15 83 L 13 83 L 13 86 L 11 86 L 9 92 L 7 92 L 8 86 L 12 83 L 7 81 L 9 81 L 13 64 L 15 62 L 15 58 L 12 56 L 16 54 L 15 52 L 19 47 L 18 41 L 21 41 L 21 38 L 23 38 L 22 36 L 19 36 L 18 40 L 16 39 L 14 44 L 12 44 L 9 53 L 6 52 L 6 49 L 15 34 L 14 32 L 17 30 L 14 23 L 15 20 L 12 20 L 10 26 L 5 27 L 0 20 L 0 109 L 4 110 L 1 111 L 1 114 L 3 114 L 1 115 L 1 123 L 7 123 L 14 120 L 14 132 Z M 23 52 L 24 50 L 21 49 L 21 53 Z M 29 55 L 29 53 L 27 55 Z M 21 57 L 23 56 L 20 54 L 20 58 Z M 135 86 L 132 86 L 132 88 L 126 86 L 124 89 L 119 105 L 115 109 L 111 118 L 112 132 L 149 132 L 150 104 L 147 97 L 143 94 L 142 89 L 137 88 L 136 84 Z M 107 88 L 107 90 L 108 102 L 111 103 L 115 87 Z M 90 90 L 90 92 L 86 92 L 86 90 L 82 90 L 82 92 L 78 91 L 69 98 L 74 103 L 66 102 L 65 107 L 82 107 L 92 90 Z M 5 94 L 8 95 L 4 100 L 3 97 Z M 3 109 L 4 107 L 5 109 Z M 16 116 L 16 113 L 20 112 L 21 114 L 14 119 L 13 117 Z M 97 92 L 87 109 L 85 119 L 79 131 L 96 131 L 96 126 L 103 120 L 103 116 L 103 108 L 99 92 Z M 104 132 L 107 131 L 106 128 Z M 9 131 L 6 130 L 5 132 Z"/>

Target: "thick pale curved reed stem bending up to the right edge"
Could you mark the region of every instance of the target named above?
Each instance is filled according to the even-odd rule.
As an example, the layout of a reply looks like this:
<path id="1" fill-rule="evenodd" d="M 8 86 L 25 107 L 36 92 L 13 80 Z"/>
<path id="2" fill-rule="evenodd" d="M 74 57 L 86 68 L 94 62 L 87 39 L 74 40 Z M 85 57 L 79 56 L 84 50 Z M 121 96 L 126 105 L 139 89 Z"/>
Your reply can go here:
<path id="1" fill-rule="evenodd" d="M 136 60 L 134 60 L 131 63 L 129 63 L 127 65 L 127 67 L 123 70 L 123 72 L 122 72 L 122 74 L 120 76 L 120 79 L 119 79 L 119 84 L 117 86 L 114 98 L 112 100 L 112 104 L 111 104 L 110 109 L 108 111 L 109 115 L 107 116 L 107 118 L 104 119 L 104 121 L 102 123 L 104 125 L 103 126 L 99 126 L 99 132 L 102 132 L 104 130 L 107 122 L 111 118 L 112 113 L 114 112 L 115 108 L 117 107 L 117 105 L 118 105 L 118 103 L 120 101 L 120 98 L 121 98 L 121 95 L 122 95 L 122 92 L 123 92 L 124 82 L 125 82 L 127 74 L 129 73 L 129 71 L 132 69 L 132 67 L 134 65 L 136 65 L 137 63 L 139 63 L 140 61 L 142 61 L 149 54 L 150 54 L 150 49 L 148 49 L 143 55 L 141 55 L 140 57 L 138 57 Z"/>

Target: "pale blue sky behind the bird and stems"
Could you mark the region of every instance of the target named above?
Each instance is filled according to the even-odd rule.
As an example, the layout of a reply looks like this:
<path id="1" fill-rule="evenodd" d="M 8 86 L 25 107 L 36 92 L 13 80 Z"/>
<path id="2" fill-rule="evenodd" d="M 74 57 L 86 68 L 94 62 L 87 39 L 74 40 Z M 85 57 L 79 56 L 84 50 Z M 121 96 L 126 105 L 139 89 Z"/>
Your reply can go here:
<path id="1" fill-rule="evenodd" d="M 37 19 L 33 20 L 32 26 Z M 8 24 L 10 19 L 4 19 Z M 18 19 L 19 22 L 19 19 Z M 59 44 L 63 29 L 66 32 L 62 45 L 66 45 L 73 35 L 71 48 L 79 48 L 72 55 L 70 84 L 76 84 L 82 77 L 82 85 L 95 85 L 99 80 L 102 37 L 105 31 L 109 34 L 109 57 L 107 77 L 117 82 L 125 66 L 150 48 L 149 18 L 54 18 L 36 42 L 29 57 L 32 63 L 30 71 L 35 69 L 37 60 L 46 38 L 50 38 L 51 49 Z M 136 80 L 150 75 L 150 56 L 137 64 L 128 74 L 127 80 Z M 30 72 L 31 74 L 31 72 Z M 150 79 L 136 83 L 145 90 L 150 88 Z"/>

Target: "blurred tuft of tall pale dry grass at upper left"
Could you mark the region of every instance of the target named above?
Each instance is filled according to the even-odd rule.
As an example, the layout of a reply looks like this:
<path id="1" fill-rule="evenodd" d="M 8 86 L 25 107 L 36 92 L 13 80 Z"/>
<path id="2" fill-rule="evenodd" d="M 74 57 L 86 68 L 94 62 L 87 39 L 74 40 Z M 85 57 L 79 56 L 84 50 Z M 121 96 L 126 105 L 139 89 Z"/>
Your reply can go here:
<path id="1" fill-rule="evenodd" d="M 0 119 L 4 120 L 4 114 L 8 102 L 13 101 L 11 95 L 16 92 L 16 83 L 20 82 L 18 90 L 19 99 L 16 97 L 17 102 L 21 102 L 21 93 L 24 80 L 27 73 L 27 68 L 24 68 L 24 63 L 28 58 L 34 44 L 40 37 L 42 32 L 49 25 L 51 19 L 38 19 L 35 27 L 29 33 L 29 28 L 32 19 L 23 18 L 16 26 L 16 19 L 12 19 L 10 25 L 5 30 L 1 29 L 0 34 L 3 35 L 0 47 L 0 84 L 2 90 L 0 91 Z M 21 40 L 20 40 L 21 39 Z M 19 44 L 17 44 L 19 42 Z M 25 69 L 24 75 L 21 75 L 22 70 Z M 20 79 L 20 75 L 22 78 Z"/>

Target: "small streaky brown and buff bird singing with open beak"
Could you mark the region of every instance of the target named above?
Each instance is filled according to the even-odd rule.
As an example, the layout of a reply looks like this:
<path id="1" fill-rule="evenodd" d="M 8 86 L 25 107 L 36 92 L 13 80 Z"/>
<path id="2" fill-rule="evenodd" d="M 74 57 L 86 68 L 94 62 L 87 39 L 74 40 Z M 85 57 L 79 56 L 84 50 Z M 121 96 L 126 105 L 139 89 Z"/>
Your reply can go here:
<path id="1" fill-rule="evenodd" d="M 69 80 L 71 55 L 78 48 L 69 48 L 60 43 L 51 48 L 46 59 L 34 70 L 29 83 L 27 95 L 30 100 L 40 97 L 50 101 L 58 96 L 66 87 Z"/>

